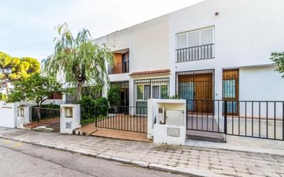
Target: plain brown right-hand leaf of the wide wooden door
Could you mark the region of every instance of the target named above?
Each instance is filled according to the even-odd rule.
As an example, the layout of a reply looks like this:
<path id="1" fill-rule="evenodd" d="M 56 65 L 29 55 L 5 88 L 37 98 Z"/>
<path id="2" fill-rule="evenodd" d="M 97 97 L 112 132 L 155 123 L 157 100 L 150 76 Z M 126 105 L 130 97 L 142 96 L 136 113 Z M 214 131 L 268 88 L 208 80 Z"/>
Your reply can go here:
<path id="1" fill-rule="evenodd" d="M 194 75 L 194 111 L 213 113 L 213 76 L 212 73 Z"/>

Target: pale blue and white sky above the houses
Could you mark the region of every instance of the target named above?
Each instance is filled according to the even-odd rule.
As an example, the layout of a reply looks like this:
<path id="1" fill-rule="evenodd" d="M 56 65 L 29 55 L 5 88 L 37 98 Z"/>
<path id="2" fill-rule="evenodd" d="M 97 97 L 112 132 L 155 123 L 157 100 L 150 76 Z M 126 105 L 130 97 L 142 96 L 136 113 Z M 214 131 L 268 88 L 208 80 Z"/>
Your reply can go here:
<path id="1" fill-rule="evenodd" d="M 41 61 L 52 54 L 54 28 L 67 22 L 101 37 L 203 0 L 0 0 L 0 51 Z"/>

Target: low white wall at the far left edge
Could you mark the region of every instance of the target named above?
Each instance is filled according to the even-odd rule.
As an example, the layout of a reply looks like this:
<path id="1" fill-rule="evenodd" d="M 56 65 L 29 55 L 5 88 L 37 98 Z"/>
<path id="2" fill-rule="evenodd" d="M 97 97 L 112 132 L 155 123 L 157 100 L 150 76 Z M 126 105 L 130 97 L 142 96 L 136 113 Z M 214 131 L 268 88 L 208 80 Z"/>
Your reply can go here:
<path id="1" fill-rule="evenodd" d="M 0 126 L 17 127 L 17 107 L 19 103 L 0 103 Z"/>

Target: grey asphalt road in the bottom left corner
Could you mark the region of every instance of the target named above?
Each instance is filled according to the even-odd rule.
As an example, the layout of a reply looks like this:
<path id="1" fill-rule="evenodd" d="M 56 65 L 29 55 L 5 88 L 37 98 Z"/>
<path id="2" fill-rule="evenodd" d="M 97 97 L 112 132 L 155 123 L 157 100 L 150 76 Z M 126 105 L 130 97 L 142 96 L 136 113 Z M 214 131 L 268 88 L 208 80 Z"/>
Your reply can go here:
<path id="1" fill-rule="evenodd" d="M 183 176 L 0 138 L 0 176 Z"/>

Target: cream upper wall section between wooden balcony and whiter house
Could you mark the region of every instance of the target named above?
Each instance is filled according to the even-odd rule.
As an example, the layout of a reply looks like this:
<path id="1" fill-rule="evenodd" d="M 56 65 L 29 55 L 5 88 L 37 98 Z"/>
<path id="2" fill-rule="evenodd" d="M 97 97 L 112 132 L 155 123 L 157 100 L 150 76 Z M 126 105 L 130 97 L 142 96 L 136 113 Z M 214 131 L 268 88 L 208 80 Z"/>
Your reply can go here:
<path id="1" fill-rule="evenodd" d="M 113 32 L 95 41 L 114 45 L 113 51 L 129 49 L 130 73 L 170 68 L 168 15 Z M 128 74 L 110 75 L 110 81 L 128 79 Z"/>

